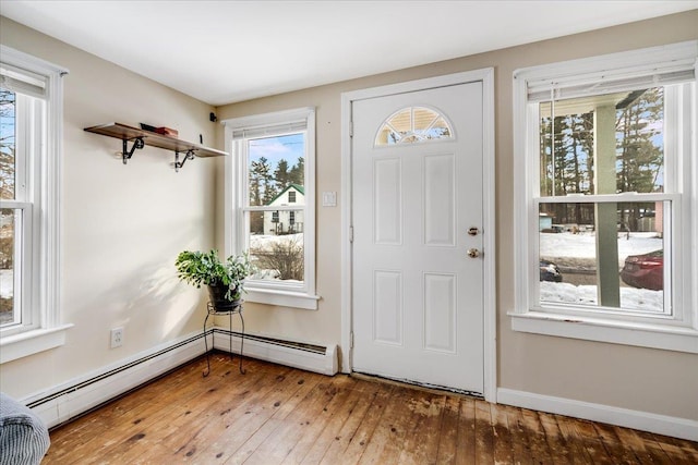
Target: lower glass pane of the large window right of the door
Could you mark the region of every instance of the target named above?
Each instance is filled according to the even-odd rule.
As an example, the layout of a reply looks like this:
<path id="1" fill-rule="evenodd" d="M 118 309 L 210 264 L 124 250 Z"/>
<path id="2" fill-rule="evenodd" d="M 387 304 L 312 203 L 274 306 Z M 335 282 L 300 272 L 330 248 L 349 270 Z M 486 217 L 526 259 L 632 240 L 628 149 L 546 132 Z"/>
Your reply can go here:
<path id="1" fill-rule="evenodd" d="M 663 313 L 669 205 L 541 204 L 541 303 Z"/>

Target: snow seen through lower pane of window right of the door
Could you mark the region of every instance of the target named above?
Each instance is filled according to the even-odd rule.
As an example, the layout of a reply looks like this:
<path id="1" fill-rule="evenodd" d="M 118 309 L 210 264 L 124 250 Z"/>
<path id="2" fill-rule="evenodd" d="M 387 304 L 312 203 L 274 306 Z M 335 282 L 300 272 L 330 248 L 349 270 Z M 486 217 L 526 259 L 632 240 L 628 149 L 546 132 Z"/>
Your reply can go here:
<path id="1" fill-rule="evenodd" d="M 628 255 L 647 254 L 663 248 L 664 244 L 657 233 L 618 234 L 618 267 L 623 267 Z M 597 255 L 595 234 L 541 233 L 540 254 L 555 261 L 555 258 L 591 258 Z M 564 274 L 563 274 L 564 280 Z M 566 282 L 540 283 L 542 302 L 598 305 L 595 285 L 574 285 Z M 664 309 L 664 292 L 648 289 L 621 287 L 621 307 L 646 311 Z"/>

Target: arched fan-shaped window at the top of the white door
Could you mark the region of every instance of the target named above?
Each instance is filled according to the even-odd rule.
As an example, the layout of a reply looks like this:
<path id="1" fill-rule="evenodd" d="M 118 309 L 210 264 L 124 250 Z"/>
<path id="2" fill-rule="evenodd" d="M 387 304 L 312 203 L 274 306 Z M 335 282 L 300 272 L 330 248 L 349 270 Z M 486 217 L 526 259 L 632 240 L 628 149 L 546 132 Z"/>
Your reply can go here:
<path id="1" fill-rule="evenodd" d="M 383 122 L 374 144 L 376 147 L 418 144 L 453 137 L 452 126 L 443 114 L 425 107 L 409 107 Z"/>

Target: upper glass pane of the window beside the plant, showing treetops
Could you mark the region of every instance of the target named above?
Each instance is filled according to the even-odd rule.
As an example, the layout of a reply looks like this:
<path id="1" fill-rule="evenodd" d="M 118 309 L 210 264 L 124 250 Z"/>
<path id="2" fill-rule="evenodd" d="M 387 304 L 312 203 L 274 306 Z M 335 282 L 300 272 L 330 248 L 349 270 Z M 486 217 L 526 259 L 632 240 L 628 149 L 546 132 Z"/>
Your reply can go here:
<path id="1" fill-rule="evenodd" d="M 289 191 L 302 196 L 304 156 L 303 133 L 248 140 L 248 205 L 286 205 Z"/>

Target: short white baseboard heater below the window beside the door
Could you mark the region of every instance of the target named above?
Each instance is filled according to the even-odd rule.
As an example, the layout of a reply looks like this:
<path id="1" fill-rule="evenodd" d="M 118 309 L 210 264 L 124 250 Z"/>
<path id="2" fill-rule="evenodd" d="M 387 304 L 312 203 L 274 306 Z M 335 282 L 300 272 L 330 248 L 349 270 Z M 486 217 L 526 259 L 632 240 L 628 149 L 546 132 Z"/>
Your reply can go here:
<path id="1" fill-rule="evenodd" d="M 272 362 L 327 376 L 334 376 L 339 371 L 336 345 L 309 351 L 289 344 L 277 344 L 254 338 L 255 335 L 250 334 L 244 339 L 242 353 L 245 357 L 257 358 L 260 360 Z M 214 329 L 213 345 L 219 351 L 230 352 L 230 336 L 227 329 Z M 233 332 L 232 335 L 232 352 L 234 354 L 240 353 L 240 336 L 236 332 Z"/>

